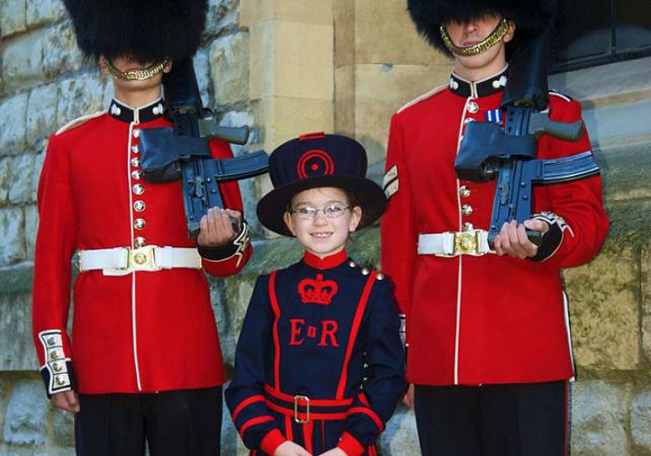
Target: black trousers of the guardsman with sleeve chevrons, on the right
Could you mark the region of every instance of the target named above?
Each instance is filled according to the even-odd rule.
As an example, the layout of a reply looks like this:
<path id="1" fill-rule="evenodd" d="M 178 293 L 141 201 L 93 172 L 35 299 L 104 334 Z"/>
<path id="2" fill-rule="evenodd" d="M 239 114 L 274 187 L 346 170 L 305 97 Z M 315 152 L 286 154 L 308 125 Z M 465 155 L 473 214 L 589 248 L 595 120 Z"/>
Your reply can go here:
<path id="1" fill-rule="evenodd" d="M 432 387 L 416 385 L 423 456 L 567 454 L 567 382 Z"/>

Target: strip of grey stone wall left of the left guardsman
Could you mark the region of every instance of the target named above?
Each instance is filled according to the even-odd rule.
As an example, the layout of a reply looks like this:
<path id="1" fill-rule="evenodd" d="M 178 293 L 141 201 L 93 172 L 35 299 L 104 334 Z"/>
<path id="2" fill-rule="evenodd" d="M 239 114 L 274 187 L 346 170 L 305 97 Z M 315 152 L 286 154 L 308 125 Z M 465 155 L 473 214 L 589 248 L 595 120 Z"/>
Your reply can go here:
<path id="1" fill-rule="evenodd" d="M 69 28 L 62 26 L 62 13 L 55 2 L 0 2 L 2 454 L 32 454 L 35 448 L 72 444 L 71 417 L 49 409 L 35 374 L 29 328 L 36 180 L 48 132 L 70 114 L 57 94 L 66 91 L 70 99 L 67 88 L 72 79 L 61 75 L 80 67 Z M 93 88 L 96 97 L 102 91 L 97 85 Z"/>

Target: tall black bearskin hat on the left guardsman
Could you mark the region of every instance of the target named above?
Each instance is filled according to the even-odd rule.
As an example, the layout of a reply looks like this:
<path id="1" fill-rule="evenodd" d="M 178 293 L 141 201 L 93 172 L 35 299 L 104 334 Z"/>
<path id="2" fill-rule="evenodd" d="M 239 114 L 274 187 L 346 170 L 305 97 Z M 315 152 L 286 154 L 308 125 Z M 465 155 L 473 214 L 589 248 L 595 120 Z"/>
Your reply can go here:
<path id="1" fill-rule="evenodd" d="M 87 57 L 129 55 L 141 62 L 192 57 L 207 0 L 63 0 Z"/>

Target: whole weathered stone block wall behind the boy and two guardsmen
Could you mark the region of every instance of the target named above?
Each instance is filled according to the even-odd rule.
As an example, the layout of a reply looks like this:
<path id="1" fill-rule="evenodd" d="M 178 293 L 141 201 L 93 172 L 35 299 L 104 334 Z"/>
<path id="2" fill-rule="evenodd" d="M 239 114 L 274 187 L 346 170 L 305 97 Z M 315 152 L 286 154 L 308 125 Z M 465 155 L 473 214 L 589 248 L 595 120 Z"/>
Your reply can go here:
<path id="1" fill-rule="evenodd" d="M 110 82 L 78 53 L 59 0 L 0 0 L 0 40 L 0 454 L 73 454 L 71 417 L 49 407 L 31 342 L 36 181 L 48 134 L 103 109 Z M 565 272 L 579 368 L 572 388 L 579 455 L 651 454 L 650 64 L 639 59 L 551 79 L 583 100 L 613 221 L 602 254 Z M 204 102 L 222 123 L 255 127 L 251 144 L 236 153 L 335 130 L 365 144 L 375 179 L 391 113 L 445 83 L 449 66 L 396 0 L 211 0 L 195 58 Z M 296 244 L 254 220 L 268 179 L 242 188 L 255 254 L 242 275 L 212 282 L 229 369 L 255 276 L 300 256 Z M 377 231 L 353 238 L 360 263 L 378 265 Z M 245 454 L 224 422 L 223 454 Z M 398 409 L 382 445 L 386 454 L 418 454 L 411 412 Z"/>

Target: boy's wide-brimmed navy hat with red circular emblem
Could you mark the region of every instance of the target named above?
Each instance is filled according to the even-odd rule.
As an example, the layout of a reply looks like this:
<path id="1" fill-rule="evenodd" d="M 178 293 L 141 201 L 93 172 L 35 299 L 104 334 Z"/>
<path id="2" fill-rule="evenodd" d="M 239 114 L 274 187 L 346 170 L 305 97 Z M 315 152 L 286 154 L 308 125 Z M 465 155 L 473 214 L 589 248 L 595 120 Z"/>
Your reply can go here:
<path id="1" fill-rule="evenodd" d="M 316 187 L 338 187 L 350 192 L 362 208 L 357 228 L 375 222 L 387 206 L 376 182 L 367 179 L 367 152 L 356 140 L 323 132 L 302 135 L 276 148 L 269 158 L 274 190 L 258 202 L 260 223 L 271 231 L 292 236 L 284 212 L 294 195 Z"/>

